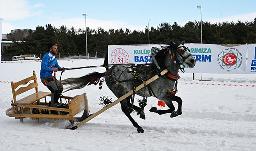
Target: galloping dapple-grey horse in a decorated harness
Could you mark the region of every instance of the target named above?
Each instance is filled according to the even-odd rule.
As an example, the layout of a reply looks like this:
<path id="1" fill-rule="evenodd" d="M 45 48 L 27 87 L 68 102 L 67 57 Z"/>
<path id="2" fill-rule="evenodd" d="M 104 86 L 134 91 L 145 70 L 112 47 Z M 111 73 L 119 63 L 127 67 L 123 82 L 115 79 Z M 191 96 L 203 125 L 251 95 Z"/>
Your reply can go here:
<path id="1" fill-rule="evenodd" d="M 179 69 L 184 70 L 184 66 L 193 68 L 196 60 L 189 52 L 189 49 L 184 46 L 185 41 L 177 42 L 162 46 L 161 49 L 152 48 L 151 57 L 153 61 L 151 64 L 117 64 L 112 66 L 104 73 L 93 72 L 79 78 L 68 78 L 62 81 L 63 85 L 69 85 L 68 90 L 81 89 L 85 85 L 102 83 L 105 78 L 106 84 L 109 89 L 114 93 L 116 97 L 121 97 L 131 90 L 135 90 L 135 87 L 141 83 L 147 81 L 156 74 L 159 74 L 162 70 L 167 69 L 168 73 L 161 76 L 149 85 L 144 86 L 133 95 L 127 97 L 121 101 L 121 109 L 125 115 L 132 122 L 133 126 L 137 128 L 137 132 L 143 133 L 144 130 L 135 122 L 131 117 L 131 111 L 134 109 L 140 114 L 140 117 L 145 119 L 143 108 L 147 105 L 147 97 L 157 97 L 160 100 L 164 100 L 165 104 L 169 107 L 167 110 L 158 110 L 156 107 L 152 107 L 150 112 L 156 112 L 158 114 L 171 113 L 171 118 L 181 115 L 182 100 L 176 96 L 177 80 L 179 79 Z M 101 80 L 100 80 L 101 79 Z M 143 100 L 140 101 L 138 106 L 133 105 L 134 95 L 140 95 Z M 177 111 L 172 101 L 178 103 Z"/>

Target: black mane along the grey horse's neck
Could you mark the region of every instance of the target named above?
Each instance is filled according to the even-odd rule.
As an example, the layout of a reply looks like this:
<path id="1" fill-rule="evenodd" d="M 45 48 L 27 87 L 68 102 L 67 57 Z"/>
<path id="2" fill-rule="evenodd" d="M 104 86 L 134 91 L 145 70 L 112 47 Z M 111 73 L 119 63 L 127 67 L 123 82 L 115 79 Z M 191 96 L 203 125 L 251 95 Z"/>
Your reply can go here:
<path id="1" fill-rule="evenodd" d="M 159 65 L 160 68 L 165 69 L 165 55 L 169 54 L 169 49 L 172 48 L 177 48 L 181 43 L 180 42 L 175 42 L 175 44 L 167 44 L 168 46 L 165 46 L 165 48 L 159 50 L 156 54 L 155 54 L 155 59 Z M 150 56 L 151 57 L 151 56 Z M 152 60 L 151 64 L 155 64 L 154 60 Z"/>

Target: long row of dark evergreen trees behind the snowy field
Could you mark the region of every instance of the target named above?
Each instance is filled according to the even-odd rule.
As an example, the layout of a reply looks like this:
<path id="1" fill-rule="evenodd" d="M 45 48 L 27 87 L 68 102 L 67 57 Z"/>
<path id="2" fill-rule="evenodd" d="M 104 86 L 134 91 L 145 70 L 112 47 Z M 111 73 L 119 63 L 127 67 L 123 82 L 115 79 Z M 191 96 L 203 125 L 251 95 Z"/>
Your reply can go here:
<path id="1" fill-rule="evenodd" d="M 128 28 L 109 29 L 105 31 L 102 27 L 97 30 L 86 28 L 87 30 L 87 50 L 95 55 L 107 52 L 108 45 L 145 45 L 150 44 L 168 44 L 171 41 L 183 41 L 186 43 L 200 43 L 200 22 L 189 21 L 181 27 L 177 22 L 161 23 L 159 27 L 148 31 L 146 27 L 144 31 L 131 31 Z M 19 32 L 17 32 L 18 34 Z M 29 30 L 26 36 L 9 35 L 14 41 L 12 46 L 3 52 L 3 56 L 21 55 L 21 54 L 37 54 L 41 58 L 48 52 L 47 43 L 57 43 L 58 51 L 61 55 L 80 54 L 86 55 L 85 30 L 71 27 L 67 29 L 64 25 L 59 28 L 51 24 L 46 27 L 38 26 L 33 32 Z M 25 34 L 23 34 L 25 35 Z M 17 39 L 22 40 L 21 43 L 16 42 Z M 251 22 L 223 22 L 209 23 L 202 22 L 202 40 L 208 44 L 240 44 L 240 43 L 256 43 L 256 18 Z"/>

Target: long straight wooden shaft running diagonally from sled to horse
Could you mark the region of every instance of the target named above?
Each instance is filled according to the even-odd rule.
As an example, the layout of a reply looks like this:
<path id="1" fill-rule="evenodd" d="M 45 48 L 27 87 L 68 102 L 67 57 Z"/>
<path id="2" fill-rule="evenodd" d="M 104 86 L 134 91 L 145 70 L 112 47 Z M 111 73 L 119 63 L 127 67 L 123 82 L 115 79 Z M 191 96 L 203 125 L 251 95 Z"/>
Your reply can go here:
<path id="1" fill-rule="evenodd" d="M 166 74 L 168 71 L 167 69 L 163 70 L 161 72 L 161 75 Z M 146 81 L 146 85 L 148 85 L 149 83 L 155 81 L 156 79 L 158 79 L 159 76 L 155 75 L 153 77 L 151 77 L 150 79 L 148 79 Z M 142 83 L 141 85 L 139 85 L 138 87 L 136 87 L 135 92 L 139 91 L 141 88 L 144 87 L 144 84 Z M 104 112 L 105 110 L 111 108 L 112 106 L 116 105 L 117 103 L 121 102 L 123 99 L 126 99 L 127 97 L 129 97 L 130 95 L 133 94 L 133 90 L 131 90 L 130 92 L 126 93 L 125 95 L 121 96 L 120 98 L 118 98 L 117 100 L 115 100 L 114 102 L 112 102 L 111 104 L 109 104 L 107 107 L 102 108 L 101 110 L 99 110 L 98 112 L 95 112 L 94 114 L 92 114 L 91 116 L 89 116 L 88 118 L 86 118 L 85 120 L 81 121 L 80 123 L 78 123 L 77 125 L 73 126 L 72 128 L 70 128 L 71 130 L 75 130 L 77 128 L 79 128 L 81 125 L 85 124 L 86 122 L 88 122 L 89 120 L 95 118 L 96 116 L 98 116 L 99 114 L 101 114 L 102 112 Z"/>

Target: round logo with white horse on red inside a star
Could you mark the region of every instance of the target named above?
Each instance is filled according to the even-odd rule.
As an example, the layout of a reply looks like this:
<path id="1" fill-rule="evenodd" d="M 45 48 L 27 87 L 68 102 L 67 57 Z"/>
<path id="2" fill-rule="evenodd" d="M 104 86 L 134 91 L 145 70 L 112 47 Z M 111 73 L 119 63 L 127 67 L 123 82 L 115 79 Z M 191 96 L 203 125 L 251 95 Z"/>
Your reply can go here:
<path id="1" fill-rule="evenodd" d="M 218 54 L 217 61 L 222 70 L 232 72 L 241 66 L 242 59 L 242 54 L 238 49 L 227 48 Z"/>

